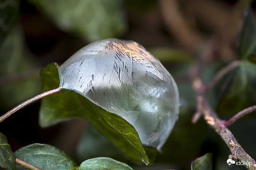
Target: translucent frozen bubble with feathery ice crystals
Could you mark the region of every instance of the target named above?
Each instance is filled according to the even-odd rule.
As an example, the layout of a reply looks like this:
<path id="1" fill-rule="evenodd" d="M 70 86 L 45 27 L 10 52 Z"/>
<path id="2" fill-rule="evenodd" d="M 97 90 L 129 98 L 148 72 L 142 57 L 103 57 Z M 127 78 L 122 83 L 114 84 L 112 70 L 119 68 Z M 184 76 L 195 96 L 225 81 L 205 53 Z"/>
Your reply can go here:
<path id="1" fill-rule="evenodd" d="M 160 150 L 178 119 L 174 79 L 137 42 L 93 42 L 63 63 L 60 74 L 62 88 L 75 90 L 124 118 L 144 145 Z"/>

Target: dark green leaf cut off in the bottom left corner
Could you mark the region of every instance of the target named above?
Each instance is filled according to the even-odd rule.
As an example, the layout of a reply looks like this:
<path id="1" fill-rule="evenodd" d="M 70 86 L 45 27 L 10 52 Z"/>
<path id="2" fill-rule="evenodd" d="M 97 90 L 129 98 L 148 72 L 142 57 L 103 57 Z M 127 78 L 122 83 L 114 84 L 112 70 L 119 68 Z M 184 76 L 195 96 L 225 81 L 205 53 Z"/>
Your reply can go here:
<path id="1" fill-rule="evenodd" d="M 1 167 L 15 170 L 15 155 L 7 143 L 7 138 L 0 132 L 0 169 Z"/>

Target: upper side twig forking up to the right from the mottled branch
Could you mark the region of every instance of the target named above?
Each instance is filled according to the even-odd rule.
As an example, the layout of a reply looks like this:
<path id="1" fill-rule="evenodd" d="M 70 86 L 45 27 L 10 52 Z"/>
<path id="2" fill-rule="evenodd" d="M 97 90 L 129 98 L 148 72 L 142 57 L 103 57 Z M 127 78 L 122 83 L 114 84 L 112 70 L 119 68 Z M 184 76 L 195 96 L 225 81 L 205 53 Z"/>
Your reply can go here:
<path id="1" fill-rule="evenodd" d="M 242 64 L 242 61 L 233 61 L 230 64 L 228 64 L 226 67 L 222 68 L 216 76 L 212 79 L 208 85 L 206 85 L 206 90 L 211 90 L 217 83 L 223 78 L 229 71 L 235 69 L 236 67 L 240 66 Z"/>

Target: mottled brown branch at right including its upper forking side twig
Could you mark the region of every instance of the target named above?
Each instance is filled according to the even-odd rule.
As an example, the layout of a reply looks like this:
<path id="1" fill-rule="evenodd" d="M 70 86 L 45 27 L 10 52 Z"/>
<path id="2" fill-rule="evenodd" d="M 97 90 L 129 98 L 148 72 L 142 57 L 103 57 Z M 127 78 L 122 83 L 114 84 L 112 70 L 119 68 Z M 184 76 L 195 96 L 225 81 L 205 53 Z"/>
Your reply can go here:
<path id="1" fill-rule="evenodd" d="M 238 2 L 243 4 L 248 4 L 249 1 L 250 0 L 245 2 L 243 0 L 240 0 Z M 242 7 L 236 8 L 234 12 L 237 14 L 237 16 L 239 16 L 240 15 L 239 13 L 241 13 L 241 11 L 243 10 L 244 10 L 244 5 Z M 234 18 L 237 18 L 237 17 L 234 17 Z M 237 23 L 237 21 L 234 21 L 234 23 Z M 239 24 L 234 24 L 234 25 L 239 25 Z M 225 35 L 225 33 L 229 31 L 228 29 L 226 29 L 226 27 L 223 27 L 223 30 L 221 31 L 222 35 Z M 230 37 L 232 39 L 234 36 L 230 36 Z M 206 120 L 206 122 L 216 131 L 217 134 L 220 135 L 223 141 L 227 144 L 229 150 L 231 151 L 231 155 L 229 156 L 229 158 L 233 160 L 239 159 L 240 161 L 250 162 L 250 164 L 252 165 L 244 164 L 244 166 L 246 166 L 246 168 L 249 170 L 256 170 L 256 161 L 252 159 L 252 157 L 244 151 L 242 146 L 237 142 L 234 135 L 223 124 L 223 120 L 220 120 L 217 113 L 213 110 L 213 108 L 209 104 L 209 101 L 206 97 L 206 92 L 208 90 L 212 89 L 212 87 L 216 85 L 217 82 L 219 82 L 219 80 L 225 74 L 228 73 L 228 71 L 236 68 L 241 63 L 234 62 L 228 65 L 226 68 L 222 69 L 216 75 L 216 77 L 213 78 L 212 82 L 210 82 L 208 85 L 203 83 L 202 81 L 202 77 L 203 77 L 202 70 L 204 70 L 204 67 L 206 66 L 207 61 L 208 62 L 211 61 L 213 58 L 215 58 L 215 56 L 217 56 L 217 54 L 220 53 L 222 45 L 225 44 L 224 42 L 227 42 L 226 39 L 228 39 L 228 41 L 231 40 L 228 37 L 213 39 L 212 46 L 204 51 L 204 53 L 198 58 L 197 62 L 194 64 L 194 67 L 192 67 L 191 69 L 194 71 L 193 73 L 190 73 L 190 76 L 193 79 L 193 89 L 196 93 L 197 108 L 198 108 L 197 112 L 202 113 L 204 115 L 204 119 Z"/>

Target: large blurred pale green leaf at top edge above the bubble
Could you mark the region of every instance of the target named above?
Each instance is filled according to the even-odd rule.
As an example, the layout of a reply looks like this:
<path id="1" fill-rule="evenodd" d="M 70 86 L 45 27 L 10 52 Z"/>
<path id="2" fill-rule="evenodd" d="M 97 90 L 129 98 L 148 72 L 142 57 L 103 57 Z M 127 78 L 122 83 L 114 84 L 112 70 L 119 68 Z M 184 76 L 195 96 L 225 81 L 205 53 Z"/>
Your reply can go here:
<path id="1" fill-rule="evenodd" d="M 123 1 L 29 0 L 63 31 L 84 40 L 118 37 L 127 30 Z"/>

